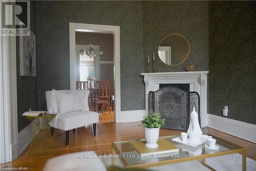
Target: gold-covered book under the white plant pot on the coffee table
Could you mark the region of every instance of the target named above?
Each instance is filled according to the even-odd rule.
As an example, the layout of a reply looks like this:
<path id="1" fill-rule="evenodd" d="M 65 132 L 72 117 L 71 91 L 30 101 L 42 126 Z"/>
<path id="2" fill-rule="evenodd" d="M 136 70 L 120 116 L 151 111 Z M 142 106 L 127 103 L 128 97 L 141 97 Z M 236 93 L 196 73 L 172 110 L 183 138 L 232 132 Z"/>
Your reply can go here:
<path id="1" fill-rule="evenodd" d="M 137 153 L 141 155 L 157 155 L 165 153 L 179 152 L 179 148 L 167 141 L 166 139 L 159 139 L 157 141 L 157 148 L 147 148 L 145 146 L 146 141 L 132 142 L 133 147 L 136 149 Z"/>

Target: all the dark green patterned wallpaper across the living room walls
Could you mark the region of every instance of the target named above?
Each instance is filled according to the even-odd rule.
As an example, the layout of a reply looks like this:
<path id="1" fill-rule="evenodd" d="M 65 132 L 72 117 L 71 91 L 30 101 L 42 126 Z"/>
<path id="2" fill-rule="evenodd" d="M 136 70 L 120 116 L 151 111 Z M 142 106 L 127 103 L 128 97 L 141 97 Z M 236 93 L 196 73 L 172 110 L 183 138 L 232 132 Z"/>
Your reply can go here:
<path id="1" fill-rule="evenodd" d="M 191 46 L 187 60 L 170 67 L 156 58 L 156 71 L 185 71 L 185 65 L 193 64 L 200 66 L 199 71 L 209 70 L 209 113 L 222 115 L 228 105 L 229 118 L 256 122 L 255 2 L 37 1 L 35 5 L 37 82 L 26 86 L 26 78 L 17 78 L 18 131 L 29 123 L 20 117 L 22 112 L 30 105 L 37 108 L 35 92 L 26 96 L 30 90 L 37 89 L 38 108 L 46 110 L 47 90 L 70 88 L 69 22 L 120 26 L 122 111 L 144 109 L 140 73 L 146 72 L 147 55 L 157 52 L 162 37 L 180 33 Z"/>

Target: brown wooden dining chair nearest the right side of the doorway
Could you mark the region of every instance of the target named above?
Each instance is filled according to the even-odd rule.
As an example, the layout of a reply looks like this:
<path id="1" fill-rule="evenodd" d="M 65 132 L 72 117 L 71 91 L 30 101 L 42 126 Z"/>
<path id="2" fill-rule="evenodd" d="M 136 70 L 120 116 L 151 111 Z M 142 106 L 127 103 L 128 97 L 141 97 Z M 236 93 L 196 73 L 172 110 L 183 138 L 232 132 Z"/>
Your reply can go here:
<path id="1" fill-rule="evenodd" d="M 96 98 L 95 98 L 95 106 L 96 112 L 98 112 L 98 104 L 100 104 L 100 109 L 102 112 L 103 105 L 106 106 L 106 109 L 109 111 L 110 114 L 110 81 L 95 81 L 96 83 Z"/>

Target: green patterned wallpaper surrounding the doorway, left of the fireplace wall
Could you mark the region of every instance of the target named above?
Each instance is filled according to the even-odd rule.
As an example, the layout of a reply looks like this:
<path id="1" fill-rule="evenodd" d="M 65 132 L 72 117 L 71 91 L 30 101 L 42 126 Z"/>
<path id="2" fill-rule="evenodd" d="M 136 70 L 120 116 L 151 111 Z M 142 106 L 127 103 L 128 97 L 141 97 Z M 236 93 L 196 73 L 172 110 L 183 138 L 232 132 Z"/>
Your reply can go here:
<path id="1" fill-rule="evenodd" d="M 145 109 L 140 1 L 39 1 L 36 7 L 40 110 L 47 90 L 70 89 L 69 22 L 120 26 L 121 110 Z"/>

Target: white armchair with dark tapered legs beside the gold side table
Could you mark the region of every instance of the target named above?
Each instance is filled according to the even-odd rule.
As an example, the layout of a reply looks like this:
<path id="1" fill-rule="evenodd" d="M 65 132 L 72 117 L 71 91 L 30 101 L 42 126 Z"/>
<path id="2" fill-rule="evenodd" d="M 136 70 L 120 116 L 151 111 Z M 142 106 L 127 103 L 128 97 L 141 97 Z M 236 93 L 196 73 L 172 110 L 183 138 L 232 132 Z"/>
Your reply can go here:
<path id="1" fill-rule="evenodd" d="M 47 91 L 47 109 L 52 108 L 57 116 L 50 121 L 51 135 L 54 128 L 66 131 L 66 146 L 69 146 L 69 130 L 93 124 L 94 137 L 99 115 L 89 111 L 89 90 L 60 90 Z"/>

